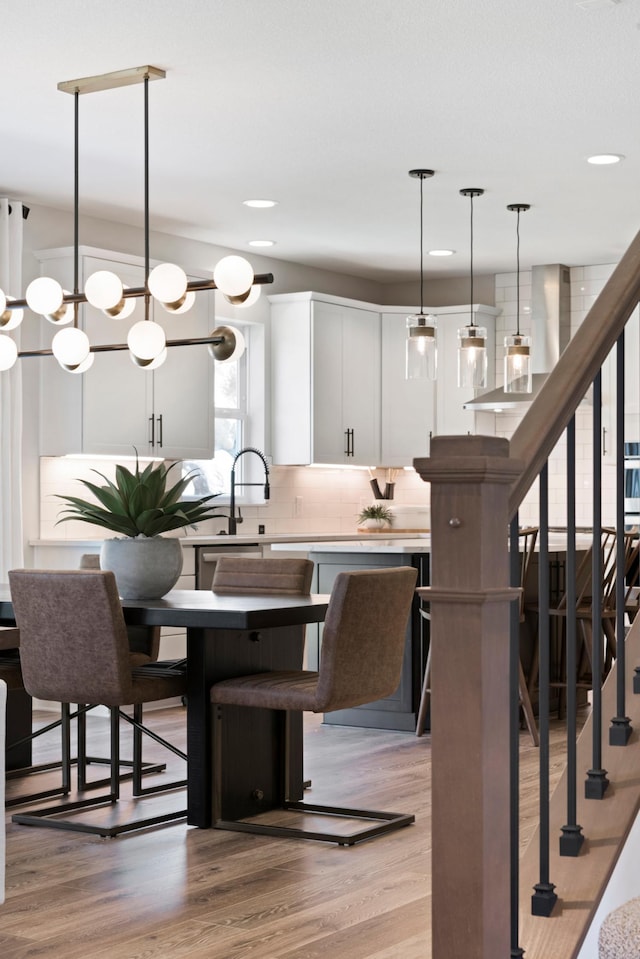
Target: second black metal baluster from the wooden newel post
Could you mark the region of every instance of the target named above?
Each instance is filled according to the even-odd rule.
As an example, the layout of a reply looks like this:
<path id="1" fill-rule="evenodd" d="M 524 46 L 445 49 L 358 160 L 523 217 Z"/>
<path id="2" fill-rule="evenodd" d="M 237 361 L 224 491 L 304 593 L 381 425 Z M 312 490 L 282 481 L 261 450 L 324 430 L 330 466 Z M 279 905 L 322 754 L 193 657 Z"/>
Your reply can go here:
<path id="1" fill-rule="evenodd" d="M 538 731 L 540 736 L 540 879 L 533 887 L 531 912 L 550 916 L 556 904 L 549 881 L 549 468 L 540 472 L 538 535 Z"/>

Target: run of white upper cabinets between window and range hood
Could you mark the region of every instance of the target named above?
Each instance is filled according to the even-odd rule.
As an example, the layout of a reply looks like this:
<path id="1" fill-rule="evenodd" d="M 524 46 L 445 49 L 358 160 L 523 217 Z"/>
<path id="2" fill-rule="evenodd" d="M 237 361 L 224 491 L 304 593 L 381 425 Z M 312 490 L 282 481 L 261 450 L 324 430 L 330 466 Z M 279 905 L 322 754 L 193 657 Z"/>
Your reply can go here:
<path id="1" fill-rule="evenodd" d="M 277 464 L 412 466 L 436 433 L 476 432 L 464 409 L 473 390 L 457 386 L 457 333 L 468 306 L 429 309 L 438 317 L 436 382 L 405 378 L 407 307 L 382 307 L 318 293 L 270 296 L 272 445 Z M 487 328 L 488 380 L 495 381 L 495 317 Z"/>

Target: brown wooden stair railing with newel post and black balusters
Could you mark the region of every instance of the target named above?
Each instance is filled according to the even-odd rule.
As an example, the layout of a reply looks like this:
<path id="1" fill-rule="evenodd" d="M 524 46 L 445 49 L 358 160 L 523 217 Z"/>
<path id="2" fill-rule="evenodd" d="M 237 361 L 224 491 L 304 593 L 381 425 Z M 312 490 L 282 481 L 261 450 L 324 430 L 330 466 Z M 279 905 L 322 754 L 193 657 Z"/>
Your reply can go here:
<path id="1" fill-rule="evenodd" d="M 624 327 L 639 301 L 640 234 L 589 311 L 579 335 L 570 341 L 549 374 L 511 441 L 484 436 L 434 437 L 431 456 L 414 461 L 418 473 L 431 484 L 432 578 L 425 598 L 431 608 L 432 643 L 433 959 L 507 959 L 523 954 L 518 940 L 519 880 L 517 869 L 514 876 L 511 868 L 517 859 L 517 855 L 513 855 L 517 828 L 514 839 L 512 827 L 514 803 L 517 810 L 517 796 L 514 800 L 517 758 L 516 773 L 513 772 L 517 732 L 514 735 L 513 730 L 514 725 L 517 730 L 518 717 L 515 669 L 518 655 L 514 645 L 517 635 L 514 641 L 510 620 L 520 590 L 511 585 L 507 531 L 514 517 L 517 525 L 519 506 L 541 473 L 543 481 L 539 485 L 544 513 L 545 465 L 565 431 L 568 499 L 574 495 L 570 482 L 575 412 L 594 381 L 595 403 L 599 408 L 599 373 L 616 343 L 619 344 L 620 394 L 620 383 L 624 383 Z M 617 406 L 622 422 L 620 399 Z M 597 416 L 594 424 L 599 434 Z M 596 440 L 594 430 L 594 465 L 599 458 L 599 439 L 598 435 Z M 620 426 L 616 487 L 618 533 L 624 523 L 622 439 Z M 575 482 L 575 463 L 573 478 Z M 596 506 L 594 530 L 600 528 L 598 516 Z M 542 550 L 547 536 L 544 525 L 542 516 Z M 512 538 L 513 531 L 512 525 Z M 621 536 L 618 538 L 622 540 Z M 545 563 L 541 558 L 540 567 Z M 617 569 L 621 589 L 624 588 L 623 563 L 620 553 Z M 569 515 L 567 522 L 567 577 L 571 580 L 574 575 L 575 510 L 573 520 Z M 545 588 L 544 583 L 541 587 Z M 623 607 L 621 593 L 618 600 L 619 608 Z M 618 659 L 624 648 L 623 616 L 622 608 L 616 633 Z M 541 621 L 544 618 L 541 611 Z M 568 624 L 571 620 L 572 617 L 567 617 Z M 599 621 L 594 621 L 593 634 L 600 634 Z M 568 625 L 567 635 L 567 650 L 571 654 L 575 650 L 575 624 Z M 573 669 L 574 663 L 569 665 Z M 619 666 L 618 662 L 618 673 Z M 627 682 L 624 670 L 616 682 L 624 703 Z M 573 709 L 573 702 L 570 705 Z M 619 715 L 619 705 L 620 697 L 616 705 L 618 718 L 625 719 Z M 543 712 L 547 709 L 542 689 L 540 709 Z M 541 726 L 544 721 L 545 717 L 541 716 Z M 600 735 L 600 731 L 593 735 Z M 628 742 L 626 732 L 622 738 L 625 737 Z M 544 749 L 545 743 L 541 741 L 541 753 Z M 544 790 L 544 786 L 541 788 Z M 571 818 L 573 783 L 567 788 Z M 605 799 L 603 808 L 606 802 Z M 565 825 L 572 836 L 573 824 L 569 821 Z M 617 829 L 618 840 L 626 828 Z M 572 842 L 573 839 L 568 845 Z M 586 855 L 581 842 L 575 846 L 569 855 Z M 544 879 L 544 863 L 542 865 Z M 602 881 L 605 879 L 603 876 Z M 533 893 L 535 901 L 539 893 L 538 905 L 541 900 L 542 912 L 548 896 L 551 913 L 555 908 L 554 884 L 549 880 L 537 885 L 541 887 L 539 890 L 528 889 L 523 895 L 528 899 Z M 545 885 L 551 888 L 545 889 Z M 579 941 L 580 936 L 576 939 Z M 576 955 L 576 942 L 570 946 L 567 939 L 563 947 L 566 951 L 558 955 L 562 959 Z M 528 950 L 527 942 L 523 942 L 523 947 Z M 549 953 L 529 949 L 527 955 L 528 959 L 548 959 Z"/>

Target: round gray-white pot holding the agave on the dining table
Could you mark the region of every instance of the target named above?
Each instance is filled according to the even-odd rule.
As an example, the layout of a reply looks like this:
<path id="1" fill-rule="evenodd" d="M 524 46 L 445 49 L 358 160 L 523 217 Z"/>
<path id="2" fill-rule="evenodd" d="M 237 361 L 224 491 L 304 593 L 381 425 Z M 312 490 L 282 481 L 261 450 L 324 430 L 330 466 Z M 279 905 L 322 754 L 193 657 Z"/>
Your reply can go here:
<path id="1" fill-rule="evenodd" d="M 100 566 L 115 573 L 122 599 L 160 599 L 182 572 L 180 540 L 164 536 L 106 539 Z"/>

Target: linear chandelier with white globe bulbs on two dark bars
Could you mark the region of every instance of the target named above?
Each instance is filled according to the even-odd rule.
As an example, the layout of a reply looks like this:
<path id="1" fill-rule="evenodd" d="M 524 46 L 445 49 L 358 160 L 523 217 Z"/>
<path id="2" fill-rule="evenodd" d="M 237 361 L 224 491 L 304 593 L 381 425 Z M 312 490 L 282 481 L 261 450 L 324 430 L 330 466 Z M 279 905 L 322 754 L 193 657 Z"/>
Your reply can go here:
<path id="1" fill-rule="evenodd" d="M 164 70 L 153 66 L 133 67 L 114 73 L 69 80 L 58 84 L 63 93 L 74 97 L 74 287 L 63 290 L 57 280 L 39 277 L 27 287 L 25 297 L 16 299 L 0 290 L 0 372 L 10 369 L 18 358 L 55 356 L 60 366 L 70 373 L 84 373 L 93 363 L 94 355 L 103 352 L 129 350 L 133 362 L 145 369 L 155 369 L 164 362 L 167 348 L 206 344 L 213 358 L 219 362 L 237 359 L 244 350 L 239 330 L 220 326 L 210 336 L 167 340 L 159 323 L 150 317 L 151 300 L 167 312 L 181 314 L 193 306 L 197 293 L 220 290 L 233 306 L 250 306 L 258 298 L 264 284 L 273 283 L 272 273 L 254 275 L 251 264 L 244 257 L 223 257 L 213 270 L 212 279 L 187 279 L 184 270 L 173 263 L 161 263 L 150 269 L 149 255 L 149 81 L 165 77 Z M 144 285 L 126 287 L 110 271 L 99 270 L 79 289 L 79 97 L 81 94 L 111 90 L 131 84 L 144 84 Z M 130 316 L 137 298 L 144 298 L 144 319 L 129 330 L 126 343 L 92 346 L 79 326 L 79 306 L 89 303 L 105 316 L 124 319 Z M 7 333 L 22 322 L 28 307 L 56 327 L 63 327 L 53 337 L 51 349 L 18 350 L 16 341 Z M 71 324 L 71 325 L 69 325 Z"/>

